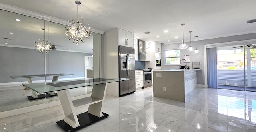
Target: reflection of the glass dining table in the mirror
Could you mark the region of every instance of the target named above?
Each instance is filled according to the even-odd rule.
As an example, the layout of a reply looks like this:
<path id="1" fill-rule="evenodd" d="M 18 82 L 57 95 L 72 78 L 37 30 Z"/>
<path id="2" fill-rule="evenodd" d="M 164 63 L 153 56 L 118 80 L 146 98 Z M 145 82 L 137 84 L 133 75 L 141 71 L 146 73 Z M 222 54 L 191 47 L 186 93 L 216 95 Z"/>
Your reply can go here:
<path id="1" fill-rule="evenodd" d="M 36 78 L 36 77 L 48 77 L 48 76 L 53 76 L 52 82 L 58 81 L 59 76 L 65 76 L 65 75 L 73 75 L 73 74 L 65 74 L 65 73 L 60 73 L 60 74 L 37 74 L 37 75 L 14 75 L 10 76 L 12 79 L 16 78 L 26 78 L 28 80 L 29 84 L 32 84 L 32 79 L 31 78 Z M 32 90 L 32 96 L 28 96 L 28 99 L 34 100 L 34 99 L 42 99 L 45 97 L 52 97 L 52 96 L 57 96 L 57 93 L 50 92 L 47 94 L 37 94 L 35 91 Z"/>

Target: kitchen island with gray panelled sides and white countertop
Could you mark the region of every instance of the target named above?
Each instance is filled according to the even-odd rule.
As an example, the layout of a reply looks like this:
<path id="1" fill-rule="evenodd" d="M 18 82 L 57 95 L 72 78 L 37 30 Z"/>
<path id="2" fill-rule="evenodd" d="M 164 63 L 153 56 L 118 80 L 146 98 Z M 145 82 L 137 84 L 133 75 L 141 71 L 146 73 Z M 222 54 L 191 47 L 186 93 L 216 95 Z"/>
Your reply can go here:
<path id="1" fill-rule="evenodd" d="M 185 95 L 197 87 L 197 70 L 154 70 L 154 97 L 185 102 Z"/>

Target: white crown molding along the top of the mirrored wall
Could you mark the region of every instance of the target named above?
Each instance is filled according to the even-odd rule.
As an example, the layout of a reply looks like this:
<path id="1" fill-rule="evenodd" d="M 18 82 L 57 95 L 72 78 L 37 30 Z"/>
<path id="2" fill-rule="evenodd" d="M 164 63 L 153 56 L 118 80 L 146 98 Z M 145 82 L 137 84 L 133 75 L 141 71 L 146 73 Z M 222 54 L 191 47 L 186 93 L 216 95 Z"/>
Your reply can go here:
<path id="1" fill-rule="evenodd" d="M 30 17 L 35 17 L 35 18 L 38 18 L 38 19 L 43 19 L 43 20 L 46 20 L 46 21 L 51 21 L 51 22 L 54 22 L 54 23 L 59 23 L 59 24 L 62 24 L 62 25 L 70 25 L 70 23 L 68 21 L 63 20 L 63 19 L 58 19 L 56 17 L 47 16 L 47 15 L 44 15 L 44 14 L 40 14 L 40 13 L 37 13 L 37 12 L 32 12 L 32 11 L 29 11 L 29 10 L 25 10 L 25 9 L 18 8 L 18 7 L 15 7 L 15 6 L 10 6 L 10 5 L 3 4 L 3 3 L 0 3 L 0 9 L 6 10 L 6 11 L 9 11 L 9 12 L 14 12 L 14 13 L 17 13 L 17 14 L 30 16 Z M 100 30 L 94 29 L 94 28 L 91 28 L 91 31 L 94 32 L 94 33 L 100 33 L 100 34 L 104 33 L 104 31 L 100 31 Z"/>

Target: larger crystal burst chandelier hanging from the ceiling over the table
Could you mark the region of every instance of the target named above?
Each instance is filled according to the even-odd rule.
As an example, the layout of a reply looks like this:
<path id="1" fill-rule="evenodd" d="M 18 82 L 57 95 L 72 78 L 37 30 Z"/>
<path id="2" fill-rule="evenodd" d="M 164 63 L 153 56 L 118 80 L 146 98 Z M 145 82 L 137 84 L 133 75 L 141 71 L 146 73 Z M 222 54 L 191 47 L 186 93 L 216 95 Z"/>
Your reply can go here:
<path id="1" fill-rule="evenodd" d="M 75 1 L 77 4 L 77 18 L 78 18 L 78 5 L 81 4 L 80 1 Z M 66 36 L 68 40 L 73 39 L 73 43 L 76 43 L 76 45 L 79 44 L 81 41 L 84 43 L 84 39 L 89 39 L 89 36 L 91 35 L 91 32 L 89 31 L 90 27 L 84 26 L 83 18 L 81 20 L 74 21 L 71 18 L 71 21 L 68 21 L 70 23 L 70 26 L 65 27 Z"/>

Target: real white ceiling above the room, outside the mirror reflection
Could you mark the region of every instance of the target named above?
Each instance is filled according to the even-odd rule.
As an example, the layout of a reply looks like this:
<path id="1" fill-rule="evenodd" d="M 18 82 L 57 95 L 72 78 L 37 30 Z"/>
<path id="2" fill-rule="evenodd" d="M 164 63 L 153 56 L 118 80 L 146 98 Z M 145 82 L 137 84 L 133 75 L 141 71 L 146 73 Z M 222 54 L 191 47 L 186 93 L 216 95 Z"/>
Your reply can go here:
<path id="1" fill-rule="evenodd" d="M 256 0 L 80 0 L 79 17 L 104 33 L 121 28 L 144 41 L 170 44 L 256 33 Z M 77 19 L 75 0 L 1 0 L 15 6 L 63 21 Z M 108 12 L 108 13 L 106 13 Z M 2 18 L 1 18 L 2 19 Z M 164 33 L 164 30 L 169 32 Z M 149 31 L 146 35 L 144 32 Z M 156 37 L 159 35 L 159 37 Z M 174 38 L 179 36 L 179 38 Z M 170 40 L 170 42 L 168 42 Z"/>

